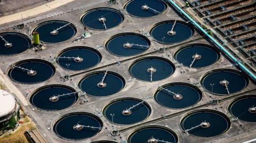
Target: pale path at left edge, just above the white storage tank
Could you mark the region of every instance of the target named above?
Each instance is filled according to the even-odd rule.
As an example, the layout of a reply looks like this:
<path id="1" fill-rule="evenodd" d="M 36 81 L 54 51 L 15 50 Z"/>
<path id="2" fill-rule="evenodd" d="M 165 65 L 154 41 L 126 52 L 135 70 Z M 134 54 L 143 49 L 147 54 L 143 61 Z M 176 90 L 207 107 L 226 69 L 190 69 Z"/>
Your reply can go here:
<path id="1" fill-rule="evenodd" d="M 8 77 L 5 76 L 2 70 L 0 70 L 0 81 L 4 85 L 4 87 L 10 92 L 10 94 L 14 94 L 24 106 L 28 105 L 26 97 L 23 96 L 20 90 L 13 85 Z"/>

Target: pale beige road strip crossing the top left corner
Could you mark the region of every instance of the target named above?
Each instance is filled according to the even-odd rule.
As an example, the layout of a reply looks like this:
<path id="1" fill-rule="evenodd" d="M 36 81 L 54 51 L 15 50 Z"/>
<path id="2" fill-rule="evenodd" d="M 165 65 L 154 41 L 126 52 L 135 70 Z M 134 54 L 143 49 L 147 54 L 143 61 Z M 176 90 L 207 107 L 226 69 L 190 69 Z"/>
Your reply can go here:
<path id="1" fill-rule="evenodd" d="M 65 4 L 73 2 L 73 1 L 75 1 L 75 0 L 65 0 L 65 1 L 55 0 L 53 2 L 47 3 L 45 5 L 37 6 L 33 9 L 30 9 L 30 10 L 26 10 L 26 11 L 18 12 L 18 13 L 15 13 L 15 14 L 3 16 L 2 18 L 0 18 L 0 25 L 4 24 L 4 23 L 9 23 L 9 22 L 21 20 L 22 18 L 26 19 L 26 18 L 29 18 L 31 16 L 53 10 L 53 9 L 59 7 L 59 6 L 65 5 Z M 22 17 L 21 17 L 21 14 L 22 14 Z"/>

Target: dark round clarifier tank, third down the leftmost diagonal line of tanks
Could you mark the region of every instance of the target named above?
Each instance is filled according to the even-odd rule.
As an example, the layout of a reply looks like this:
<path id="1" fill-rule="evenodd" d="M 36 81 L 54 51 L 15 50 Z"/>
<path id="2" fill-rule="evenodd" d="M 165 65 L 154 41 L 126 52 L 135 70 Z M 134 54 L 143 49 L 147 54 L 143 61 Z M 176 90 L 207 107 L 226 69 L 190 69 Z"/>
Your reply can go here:
<path id="1" fill-rule="evenodd" d="M 58 111 L 74 105 L 78 100 L 75 89 L 64 85 L 49 85 L 37 89 L 29 102 L 45 111 Z"/>

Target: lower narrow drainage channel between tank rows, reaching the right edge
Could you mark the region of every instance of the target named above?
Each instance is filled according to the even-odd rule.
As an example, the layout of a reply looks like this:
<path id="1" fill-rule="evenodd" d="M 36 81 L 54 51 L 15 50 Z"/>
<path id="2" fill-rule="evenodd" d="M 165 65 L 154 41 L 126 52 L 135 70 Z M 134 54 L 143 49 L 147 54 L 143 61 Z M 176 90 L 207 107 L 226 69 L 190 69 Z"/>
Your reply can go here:
<path id="1" fill-rule="evenodd" d="M 165 120 L 165 119 L 169 119 L 171 117 L 178 116 L 178 115 L 181 115 L 183 113 L 186 113 L 186 112 L 189 112 L 189 111 L 193 111 L 193 110 L 196 110 L 196 109 L 199 109 L 199 108 L 202 108 L 202 107 L 206 107 L 206 106 L 209 106 L 209 105 L 216 105 L 216 104 L 219 104 L 219 103 L 224 102 L 226 100 L 233 99 L 235 97 L 238 97 L 238 96 L 241 96 L 241 95 L 244 95 L 244 94 L 248 94 L 248 93 L 253 92 L 253 91 L 256 91 L 256 89 L 244 91 L 244 92 L 241 92 L 239 94 L 235 94 L 235 95 L 232 95 L 232 96 L 229 96 L 229 97 L 226 97 L 226 98 L 212 100 L 212 101 L 210 101 L 208 103 L 205 103 L 205 104 L 202 104 L 202 105 L 199 105 L 199 106 L 195 106 L 195 107 L 192 107 L 192 108 L 189 108 L 187 110 L 180 111 L 180 112 L 172 113 L 172 114 L 169 114 L 169 115 L 163 115 L 163 116 L 158 117 L 156 119 L 153 119 L 153 120 L 150 120 L 150 121 L 147 121 L 147 122 L 143 122 L 143 123 L 140 123 L 140 124 L 136 124 L 136 125 L 133 125 L 133 126 L 130 126 L 130 127 L 127 127 L 127 128 L 121 129 L 121 130 L 118 130 L 116 132 L 125 132 L 125 131 L 128 131 L 128 130 L 134 129 L 134 128 L 141 127 L 142 125 L 147 125 L 147 124 L 159 122 L 159 121 L 162 121 L 162 120 Z"/>

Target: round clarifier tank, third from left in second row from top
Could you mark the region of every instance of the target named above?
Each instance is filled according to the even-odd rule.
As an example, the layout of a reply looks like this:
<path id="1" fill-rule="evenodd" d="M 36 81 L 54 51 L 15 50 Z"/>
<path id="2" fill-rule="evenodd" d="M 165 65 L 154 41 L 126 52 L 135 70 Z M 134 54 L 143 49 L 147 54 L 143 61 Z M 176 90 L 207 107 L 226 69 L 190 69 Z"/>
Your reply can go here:
<path id="1" fill-rule="evenodd" d="M 111 37 L 105 47 L 109 53 L 117 56 L 133 56 L 147 51 L 150 41 L 138 33 L 120 33 Z"/>

